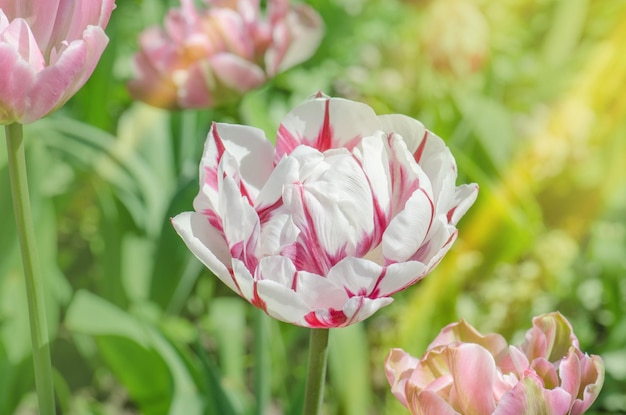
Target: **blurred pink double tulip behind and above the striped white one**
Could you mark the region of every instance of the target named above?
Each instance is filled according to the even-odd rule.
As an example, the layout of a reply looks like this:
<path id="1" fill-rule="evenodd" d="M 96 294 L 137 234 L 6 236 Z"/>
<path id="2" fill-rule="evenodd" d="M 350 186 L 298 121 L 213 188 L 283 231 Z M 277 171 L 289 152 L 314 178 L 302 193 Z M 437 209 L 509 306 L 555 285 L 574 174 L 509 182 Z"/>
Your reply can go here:
<path id="1" fill-rule="evenodd" d="M 133 97 L 167 109 L 218 106 L 308 59 L 322 38 L 321 18 L 305 5 L 269 0 L 264 17 L 259 0 L 206 2 L 181 0 L 165 28 L 141 34 Z"/>

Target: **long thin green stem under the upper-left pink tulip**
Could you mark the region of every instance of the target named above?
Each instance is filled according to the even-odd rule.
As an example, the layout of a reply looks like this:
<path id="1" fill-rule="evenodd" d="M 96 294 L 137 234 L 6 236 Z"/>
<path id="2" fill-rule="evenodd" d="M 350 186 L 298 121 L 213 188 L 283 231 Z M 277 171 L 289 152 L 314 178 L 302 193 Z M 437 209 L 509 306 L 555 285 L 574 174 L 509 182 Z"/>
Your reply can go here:
<path id="1" fill-rule="evenodd" d="M 22 250 L 22 263 L 24 265 L 24 281 L 26 283 L 39 413 L 42 415 L 54 415 L 54 387 L 52 383 L 52 363 L 50 361 L 50 342 L 48 340 L 43 284 L 37 258 L 35 229 L 28 195 L 22 125 L 17 123 L 7 125 L 5 126 L 5 132 L 13 211 L 17 225 L 17 236 Z"/>

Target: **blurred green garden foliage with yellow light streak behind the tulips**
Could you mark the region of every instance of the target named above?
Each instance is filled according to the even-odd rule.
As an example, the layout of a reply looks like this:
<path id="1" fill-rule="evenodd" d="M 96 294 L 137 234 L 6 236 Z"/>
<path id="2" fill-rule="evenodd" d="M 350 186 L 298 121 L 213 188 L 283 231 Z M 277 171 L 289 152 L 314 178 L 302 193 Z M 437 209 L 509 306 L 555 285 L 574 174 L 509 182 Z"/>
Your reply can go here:
<path id="1" fill-rule="evenodd" d="M 421 355 L 465 318 L 512 341 L 560 310 L 606 381 L 590 413 L 626 413 L 626 2 L 312 0 L 326 36 L 306 64 L 237 107 L 169 113 L 125 88 L 137 35 L 164 0 L 118 0 L 87 85 L 25 128 L 59 406 L 67 414 L 298 414 L 308 332 L 266 321 L 187 252 L 211 121 L 263 128 L 318 90 L 404 113 L 480 185 L 435 272 L 364 323 L 331 332 L 326 413 L 403 414 L 383 362 Z M 0 413 L 30 414 L 22 268 L 0 151 Z M 256 411 L 256 412 L 255 412 Z"/>

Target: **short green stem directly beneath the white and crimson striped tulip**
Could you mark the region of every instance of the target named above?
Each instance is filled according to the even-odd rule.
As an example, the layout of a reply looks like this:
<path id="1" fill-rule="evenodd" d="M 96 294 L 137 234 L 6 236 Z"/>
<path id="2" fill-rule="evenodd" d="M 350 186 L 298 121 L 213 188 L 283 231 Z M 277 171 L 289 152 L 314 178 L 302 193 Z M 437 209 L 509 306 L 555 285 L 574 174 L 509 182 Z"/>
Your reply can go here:
<path id="1" fill-rule="evenodd" d="M 328 329 L 311 329 L 303 415 L 318 415 L 322 408 L 328 357 L 328 333 Z"/>

